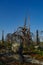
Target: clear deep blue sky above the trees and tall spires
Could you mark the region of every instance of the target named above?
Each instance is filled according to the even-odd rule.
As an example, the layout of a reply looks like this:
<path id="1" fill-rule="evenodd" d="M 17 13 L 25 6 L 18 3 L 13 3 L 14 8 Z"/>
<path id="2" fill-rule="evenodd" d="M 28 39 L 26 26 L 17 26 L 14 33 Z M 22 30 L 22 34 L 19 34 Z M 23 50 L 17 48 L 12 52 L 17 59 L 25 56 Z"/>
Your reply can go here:
<path id="1" fill-rule="evenodd" d="M 14 32 L 30 18 L 31 31 L 43 30 L 43 0 L 0 0 L 0 39 L 4 34 Z"/>

